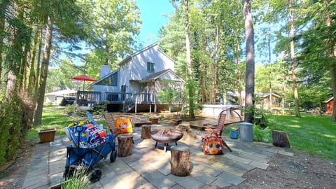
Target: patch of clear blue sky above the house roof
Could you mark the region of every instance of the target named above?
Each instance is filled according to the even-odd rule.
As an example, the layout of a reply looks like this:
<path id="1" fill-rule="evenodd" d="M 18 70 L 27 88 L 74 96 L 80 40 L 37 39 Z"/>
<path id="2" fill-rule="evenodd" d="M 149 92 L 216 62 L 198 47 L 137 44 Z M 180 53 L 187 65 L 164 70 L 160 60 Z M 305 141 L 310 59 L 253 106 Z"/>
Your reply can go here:
<path id="1" fill-rule="evenodd" d="M 169 21 L 165 15 L 172 15 L 174 7 L 169 0 L 137 0 L 137 6 L 142 20 L 139 42 L 144 41 L 145 46 L 155 43 L 160 27 Z"/>

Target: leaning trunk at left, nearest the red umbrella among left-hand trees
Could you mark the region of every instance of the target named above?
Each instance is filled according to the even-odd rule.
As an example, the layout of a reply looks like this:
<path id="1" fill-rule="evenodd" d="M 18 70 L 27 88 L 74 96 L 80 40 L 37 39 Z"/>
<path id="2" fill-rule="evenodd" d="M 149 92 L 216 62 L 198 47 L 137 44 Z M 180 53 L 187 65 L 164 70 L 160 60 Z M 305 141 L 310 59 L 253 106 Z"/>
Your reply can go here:
<path id="1" fill-rule="evenodd" d="M 40 85 L 38 88 L 37 109 L 34 116 L 34 125 L 42 124 L 44 93 L 48 77 L 48 66 L 50 60 L 51 45 L 52 45 L 52 18 L 48 17 L 48 23 L 45 28 L 45 43 L 43 51 L 41 77 L 39 82 Z"/>

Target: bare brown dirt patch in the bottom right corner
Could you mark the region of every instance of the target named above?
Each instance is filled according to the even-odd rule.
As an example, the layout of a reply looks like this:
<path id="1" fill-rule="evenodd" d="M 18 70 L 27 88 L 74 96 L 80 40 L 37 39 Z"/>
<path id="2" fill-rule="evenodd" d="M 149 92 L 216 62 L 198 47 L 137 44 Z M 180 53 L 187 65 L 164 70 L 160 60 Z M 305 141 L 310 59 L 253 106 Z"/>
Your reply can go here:
<path id="1" fill-rule="evenodd" d="M 237 188 L 335 188 L 336 160 L 319 158 L 302 151 L 294 157 L 274 155 L 266 170 L 253 169 Z"/>

